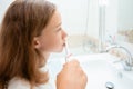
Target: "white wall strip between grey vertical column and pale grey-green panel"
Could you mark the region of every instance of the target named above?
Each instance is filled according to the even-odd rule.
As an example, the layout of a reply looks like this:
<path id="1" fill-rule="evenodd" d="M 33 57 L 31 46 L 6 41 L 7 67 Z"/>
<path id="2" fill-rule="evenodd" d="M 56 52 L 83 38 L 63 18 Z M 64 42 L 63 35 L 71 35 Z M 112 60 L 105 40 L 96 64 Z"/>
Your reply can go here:
<path id="1" fill-rule="evenodd" d="M 110 40 L 110 36 L 114 38 L 117 32 L 117 4 L 119 0 L 108 0 L 105 7 L 105 40 Z"/>

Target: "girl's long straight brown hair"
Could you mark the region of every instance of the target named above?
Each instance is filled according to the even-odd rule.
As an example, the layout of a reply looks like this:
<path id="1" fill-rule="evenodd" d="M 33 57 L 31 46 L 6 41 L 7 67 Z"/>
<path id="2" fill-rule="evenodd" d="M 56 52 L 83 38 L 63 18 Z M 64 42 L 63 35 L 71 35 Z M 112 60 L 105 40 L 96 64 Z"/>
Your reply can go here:
<path id="1" fill-rule="evenodd" d="M 55 6 L 45 0 L 16 0 L 10 4 L 0 30 L 0 88 L 13 77 L 31 85 L 48 81 L 48 73 L 39 70 L 39 61 L 44 59 L 33 48 L 33 38 L 41 34 L 54 11 Z"/>

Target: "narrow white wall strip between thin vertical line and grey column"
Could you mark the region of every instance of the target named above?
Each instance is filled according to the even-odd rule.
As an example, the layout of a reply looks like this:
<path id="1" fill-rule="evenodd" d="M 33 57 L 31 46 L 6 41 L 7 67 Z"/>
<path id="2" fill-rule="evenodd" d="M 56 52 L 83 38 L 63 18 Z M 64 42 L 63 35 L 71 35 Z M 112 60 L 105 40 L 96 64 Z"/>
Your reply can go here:
<path id="1" fill-rule="evenodd" d="M 88 29 L 90 37 L 99 39 L 99 0 L 88 0 Z"/>

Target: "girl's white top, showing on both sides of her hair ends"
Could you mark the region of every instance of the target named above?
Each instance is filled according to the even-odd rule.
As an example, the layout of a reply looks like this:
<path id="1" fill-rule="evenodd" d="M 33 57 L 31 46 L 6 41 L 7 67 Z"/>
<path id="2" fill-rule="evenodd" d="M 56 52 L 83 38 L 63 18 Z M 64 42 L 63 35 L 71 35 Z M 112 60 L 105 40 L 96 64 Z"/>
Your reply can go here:
<path id="1" fill-rule="evenodd" d="M 49 71 L 50 75 L 50 71 Z M 55 89 L 55 80 L 52 79 L 50 75 L 50 79 L 45 85 L 40 85 L 33 87 L 33 89 Z M 29 81 L 21 78 L 13 78 L 8 83 L 8 89 L 31 89 L 31 85 Z"/>

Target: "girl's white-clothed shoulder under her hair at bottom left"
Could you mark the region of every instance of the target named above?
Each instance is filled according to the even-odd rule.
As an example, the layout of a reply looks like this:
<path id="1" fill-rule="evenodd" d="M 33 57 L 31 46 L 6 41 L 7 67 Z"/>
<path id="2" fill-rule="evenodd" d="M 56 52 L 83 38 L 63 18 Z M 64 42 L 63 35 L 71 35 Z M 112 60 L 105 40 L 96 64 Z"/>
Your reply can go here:
<path id="1" fill-rule="evenodd" d="M 30 82 L 21 78 L 13 78 L 8 85 L 8 89 L 30 89 Z"/>

